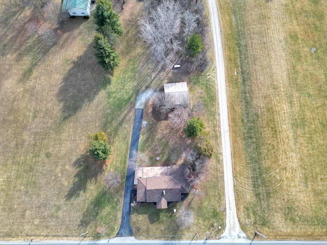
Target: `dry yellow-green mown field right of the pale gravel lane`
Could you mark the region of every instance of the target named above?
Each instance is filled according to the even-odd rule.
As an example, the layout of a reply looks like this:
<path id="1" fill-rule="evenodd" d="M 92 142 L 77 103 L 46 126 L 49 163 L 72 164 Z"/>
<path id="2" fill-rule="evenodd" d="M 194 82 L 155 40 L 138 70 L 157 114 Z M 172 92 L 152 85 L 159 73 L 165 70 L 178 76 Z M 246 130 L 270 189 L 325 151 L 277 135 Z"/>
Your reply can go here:
<path id="1" fill-rule="evenodd" d="M 218 4 L 241 227 L 325 239 L 327 3 Z"/>

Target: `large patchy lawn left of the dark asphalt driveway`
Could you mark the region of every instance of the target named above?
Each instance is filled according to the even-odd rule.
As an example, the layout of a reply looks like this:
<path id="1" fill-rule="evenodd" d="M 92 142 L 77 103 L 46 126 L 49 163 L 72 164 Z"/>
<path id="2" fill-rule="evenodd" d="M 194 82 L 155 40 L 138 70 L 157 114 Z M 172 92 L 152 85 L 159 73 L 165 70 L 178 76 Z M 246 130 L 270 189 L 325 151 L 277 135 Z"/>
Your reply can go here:
<path id="1" fill-rule="evenodd" d="M 56 30 L 57 45 L 48 46 L 25 28 L 40 16 L 1 4 L 1 236 L 118 231 L 134 102 L 152 81 L 134 31 L 141 4 L 125 6 L 122 64 L 109 75 L 94 58 L 92 18 L 69 19 Z M 113 149 L 106 168 L 86 156 L 87 134 L 99 130 Z M 109 171 L 123 179 L 110 192 L 102 181 Z"/>

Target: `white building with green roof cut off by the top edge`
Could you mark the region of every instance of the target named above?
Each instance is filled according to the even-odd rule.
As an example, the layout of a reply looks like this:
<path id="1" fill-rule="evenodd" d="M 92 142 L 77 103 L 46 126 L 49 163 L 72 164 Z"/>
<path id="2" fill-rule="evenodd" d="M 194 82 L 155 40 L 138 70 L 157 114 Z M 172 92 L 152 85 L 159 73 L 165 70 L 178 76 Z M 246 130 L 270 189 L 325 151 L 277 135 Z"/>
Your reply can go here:
<path id="1" fill-rule="evenodd" d="M 63 0 L 62 12 L 70 16 L 90 16 L 91 0 Z"/>

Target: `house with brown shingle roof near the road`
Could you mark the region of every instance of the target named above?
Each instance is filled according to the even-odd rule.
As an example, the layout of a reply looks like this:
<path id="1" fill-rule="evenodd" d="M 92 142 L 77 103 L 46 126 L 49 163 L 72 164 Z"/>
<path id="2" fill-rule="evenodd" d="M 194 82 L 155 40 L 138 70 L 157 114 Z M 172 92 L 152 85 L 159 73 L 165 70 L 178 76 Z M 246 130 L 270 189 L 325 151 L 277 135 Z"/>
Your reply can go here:
<path id="1" fill-rule="evenodd" d="M 135 170 L 136 201 L 155 203 L 157 209 L 167 208 L 170 202 L 180 202 L 190 193 L 183 171 L 188 165 L 139 167 Z"/>

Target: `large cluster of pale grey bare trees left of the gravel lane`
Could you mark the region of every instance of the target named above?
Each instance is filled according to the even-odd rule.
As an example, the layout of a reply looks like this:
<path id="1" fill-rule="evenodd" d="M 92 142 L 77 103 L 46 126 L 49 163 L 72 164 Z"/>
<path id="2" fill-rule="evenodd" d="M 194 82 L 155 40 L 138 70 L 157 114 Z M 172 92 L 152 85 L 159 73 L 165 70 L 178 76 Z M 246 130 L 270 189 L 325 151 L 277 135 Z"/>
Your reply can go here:
<path id="1" fill-rule="evenodd" d="M 148 11 L 139 18 L 139 26 L 141 36 L 147 41 L 157 61 L 167 62 L 176 55 L 181 56 L 192 33 L 204 36 L 207 32 L 200 2 L 149 0 L 147 6 Z M 200 57 L 203 58 L 203 54 Z"/>

